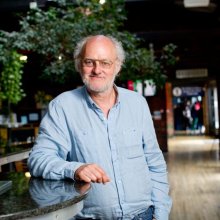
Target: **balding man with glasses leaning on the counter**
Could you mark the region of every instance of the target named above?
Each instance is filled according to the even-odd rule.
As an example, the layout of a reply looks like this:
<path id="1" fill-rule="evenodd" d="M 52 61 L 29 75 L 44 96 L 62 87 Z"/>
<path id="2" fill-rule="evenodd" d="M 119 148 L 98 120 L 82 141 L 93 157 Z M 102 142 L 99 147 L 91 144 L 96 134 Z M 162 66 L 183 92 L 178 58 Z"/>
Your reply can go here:
<path id="1" fill-rule="evenodd" d="M 78 218 L 167 220 L 166 163 L 146 100 L 114 84 L 125 58 L 120 42 L 89 36 L 74 58 L 85 86 L 49 104 L 28 160 L 31 174 L 103 183 L 92 184 Z"/>

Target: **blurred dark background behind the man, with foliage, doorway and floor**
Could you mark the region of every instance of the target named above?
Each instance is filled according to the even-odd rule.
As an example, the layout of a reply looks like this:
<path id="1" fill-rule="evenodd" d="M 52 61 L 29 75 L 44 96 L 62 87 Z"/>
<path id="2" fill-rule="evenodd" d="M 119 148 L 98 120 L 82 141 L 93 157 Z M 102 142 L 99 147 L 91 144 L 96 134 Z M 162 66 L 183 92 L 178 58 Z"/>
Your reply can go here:
<path id="1" fill-rule="evenodd" d="M 49 101 L 82 85 L 72 60 L 77 40 L 110 33 L 127 52 L 116 83 L 145 96 L 152 113 L 168 163 L 170 219 L 220 219 L 220 2 L 59 2 L 0 1 L 2 146 L 29 150 Z M 22 159 L 2 171 L 27 169 Z"/>

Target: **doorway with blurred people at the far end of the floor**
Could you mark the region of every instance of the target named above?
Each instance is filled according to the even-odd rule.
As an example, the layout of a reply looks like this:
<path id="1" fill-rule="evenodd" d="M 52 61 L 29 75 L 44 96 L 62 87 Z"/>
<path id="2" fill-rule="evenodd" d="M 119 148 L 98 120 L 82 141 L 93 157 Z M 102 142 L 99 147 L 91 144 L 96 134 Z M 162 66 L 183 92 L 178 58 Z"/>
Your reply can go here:
<path id="1" fill-rule="evenodd" d="M 174 135 L 214 135 L 219 128 L 215 81 L 172 85 Z"/>

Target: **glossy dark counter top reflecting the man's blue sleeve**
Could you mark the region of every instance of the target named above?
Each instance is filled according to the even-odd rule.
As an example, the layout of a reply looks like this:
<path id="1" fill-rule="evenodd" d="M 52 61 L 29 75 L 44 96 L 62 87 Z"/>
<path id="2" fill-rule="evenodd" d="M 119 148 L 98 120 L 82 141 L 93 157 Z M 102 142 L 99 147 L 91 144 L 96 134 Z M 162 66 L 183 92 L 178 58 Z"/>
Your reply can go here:
<path id="1" fill-rule="evenodd" d="M 23 172 L 0 173 L 0 180 L 12 182 L 7 191 L 0 192 L 1 220 L 40 219 L 39 216 L 77 205 L 90 188 L 90 184 L 43 180 L 28 177 Z"/>

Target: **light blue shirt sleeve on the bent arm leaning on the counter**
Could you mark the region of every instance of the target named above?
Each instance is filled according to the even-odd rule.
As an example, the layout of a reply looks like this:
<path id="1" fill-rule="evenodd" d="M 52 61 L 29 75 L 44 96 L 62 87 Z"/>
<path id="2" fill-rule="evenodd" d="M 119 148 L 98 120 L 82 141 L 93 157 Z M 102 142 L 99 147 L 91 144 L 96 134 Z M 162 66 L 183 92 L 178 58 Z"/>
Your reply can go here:
<path id="1" fill-rule="evenodd" d="M 74 179 L 74 172 L 83 163 L 77 162 L 76 156 L 68 161 L 69 152 L 74 150 L 72 145 L 74 140 L 70 138 L 63 108 L 52 101 L 28 158 L 31 175 L 45 179 Z"/>

